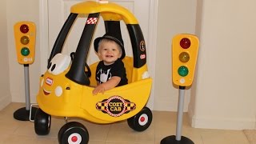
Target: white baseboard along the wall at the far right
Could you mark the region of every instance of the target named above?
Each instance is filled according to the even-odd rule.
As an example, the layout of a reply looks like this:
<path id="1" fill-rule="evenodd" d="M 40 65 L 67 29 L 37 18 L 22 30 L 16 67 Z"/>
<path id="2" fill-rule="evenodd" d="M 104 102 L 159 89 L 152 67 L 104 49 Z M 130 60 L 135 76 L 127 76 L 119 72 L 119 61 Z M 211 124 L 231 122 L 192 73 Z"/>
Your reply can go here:
<path id="1" fill-rule="evenodd" d="M 190 118 L 192 127 L 203 129 L 254 130 L 256 123 L 254 118 Z"/>

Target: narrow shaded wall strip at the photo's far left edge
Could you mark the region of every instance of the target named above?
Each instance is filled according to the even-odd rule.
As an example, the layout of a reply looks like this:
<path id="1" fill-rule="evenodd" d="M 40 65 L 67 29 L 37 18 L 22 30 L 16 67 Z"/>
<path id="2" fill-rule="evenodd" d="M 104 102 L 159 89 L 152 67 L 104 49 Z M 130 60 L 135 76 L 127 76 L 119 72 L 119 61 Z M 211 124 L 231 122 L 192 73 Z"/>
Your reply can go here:
<path id="1" fill-rule="evenodd" d="M 11 101 L 10 96 L 10 82 L 9 82 L 9 60 L 8 60 L 8 42 L 7 42 L 7 19 L 6 19 L 6 0 L 0 1 L 0 43 L 1 43 L 1 53 L 0 53 L 0 66 L 2 67 L 0 73 L 0 110 L 7 106 Z"/>

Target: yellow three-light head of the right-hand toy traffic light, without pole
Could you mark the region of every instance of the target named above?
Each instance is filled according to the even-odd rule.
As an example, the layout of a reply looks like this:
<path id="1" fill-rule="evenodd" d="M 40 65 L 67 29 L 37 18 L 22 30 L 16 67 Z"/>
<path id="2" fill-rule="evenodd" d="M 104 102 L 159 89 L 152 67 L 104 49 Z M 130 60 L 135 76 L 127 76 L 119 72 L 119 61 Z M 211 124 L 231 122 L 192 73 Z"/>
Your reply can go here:
<path id="1" fill-rule="evenodd" d="M 173 38 L 173 82 L 178 86 L 190 86 L 198 57 L 198 38 L 191 34 L 178 34 Z"/>

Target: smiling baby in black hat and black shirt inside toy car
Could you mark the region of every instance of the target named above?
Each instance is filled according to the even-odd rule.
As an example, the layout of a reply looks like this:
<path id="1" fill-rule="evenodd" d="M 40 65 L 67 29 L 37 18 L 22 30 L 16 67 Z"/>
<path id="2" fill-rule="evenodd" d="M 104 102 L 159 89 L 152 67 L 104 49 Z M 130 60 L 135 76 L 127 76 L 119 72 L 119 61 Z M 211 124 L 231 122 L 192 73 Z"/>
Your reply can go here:
<path id="1" fill-rule="evenodd" d="M 94 40 L 94 50 L 101 61 L 96 69 L 97 86 L 93 94 L 110 90 L 128 83 L 122 58 L 126 56 L 121 35 L 106 33 Z"/>

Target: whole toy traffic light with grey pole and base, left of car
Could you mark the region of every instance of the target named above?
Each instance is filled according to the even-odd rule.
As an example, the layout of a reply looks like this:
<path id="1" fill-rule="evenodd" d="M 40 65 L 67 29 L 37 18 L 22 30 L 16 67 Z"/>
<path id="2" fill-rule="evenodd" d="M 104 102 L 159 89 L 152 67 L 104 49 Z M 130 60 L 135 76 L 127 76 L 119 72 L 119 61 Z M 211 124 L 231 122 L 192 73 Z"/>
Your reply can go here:
<path id="1" fill-rule="evenodd" d="M 35 25 L 34 22 L 17 22 L 14 25 L 14 38 L 16 54 L 19 64 L 24 66 L 26 107 L 14 112 L 14 118 L 21 121 L 29 121 L 30 115 L 34 117 L 36 108 L 31 107 L 30 111 L 30 77 L 29 66 L 34 62 L 35 46 Z M 31 117 L 31 119 L 34 119 Z"/>

